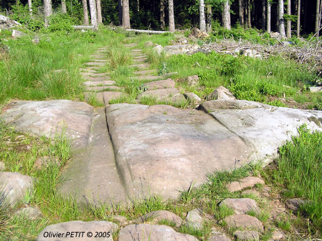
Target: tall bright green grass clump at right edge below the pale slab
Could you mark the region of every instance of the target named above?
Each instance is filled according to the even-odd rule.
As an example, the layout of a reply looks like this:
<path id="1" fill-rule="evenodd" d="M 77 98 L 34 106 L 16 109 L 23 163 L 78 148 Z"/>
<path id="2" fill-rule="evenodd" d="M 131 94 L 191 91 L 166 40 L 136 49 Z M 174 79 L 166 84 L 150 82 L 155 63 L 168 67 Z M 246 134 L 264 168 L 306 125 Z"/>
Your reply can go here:
<path id="1" fill-rule="evenodd" d="M 322 230 L 322 133 L 303 125 L 298 134 L 280 148 L 274 177 L 287 187 L 287 196 L 308 201 L 302 210 Z"/>

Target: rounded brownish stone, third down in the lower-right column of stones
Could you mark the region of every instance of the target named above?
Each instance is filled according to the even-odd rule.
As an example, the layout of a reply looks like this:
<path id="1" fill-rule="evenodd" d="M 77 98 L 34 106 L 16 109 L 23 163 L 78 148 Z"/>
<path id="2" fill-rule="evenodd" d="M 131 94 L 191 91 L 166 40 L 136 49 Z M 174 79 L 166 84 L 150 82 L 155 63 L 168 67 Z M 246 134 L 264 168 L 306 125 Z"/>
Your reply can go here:
<path id="1" fill-rule="evenodd" d="M 264 232 L 264 226 L 256 217 L 247 214 L 230 215 L 224 218 L 228 228 L 249 228 Z"/>

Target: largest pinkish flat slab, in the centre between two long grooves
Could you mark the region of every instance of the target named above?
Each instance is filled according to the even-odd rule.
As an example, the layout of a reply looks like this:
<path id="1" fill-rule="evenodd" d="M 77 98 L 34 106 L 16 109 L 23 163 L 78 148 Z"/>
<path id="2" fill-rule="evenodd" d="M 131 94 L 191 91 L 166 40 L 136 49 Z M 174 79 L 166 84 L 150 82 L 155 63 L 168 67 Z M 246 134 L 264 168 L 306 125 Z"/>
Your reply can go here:
<path id="1" fill-rule="evenodd" d="M 177 198 L 192 181 L 206 181 L 206 173 L 247 159 L 244 141 L 202 111 L 115 104 L 106 107 L 106 117 L 129 195 Z"/>

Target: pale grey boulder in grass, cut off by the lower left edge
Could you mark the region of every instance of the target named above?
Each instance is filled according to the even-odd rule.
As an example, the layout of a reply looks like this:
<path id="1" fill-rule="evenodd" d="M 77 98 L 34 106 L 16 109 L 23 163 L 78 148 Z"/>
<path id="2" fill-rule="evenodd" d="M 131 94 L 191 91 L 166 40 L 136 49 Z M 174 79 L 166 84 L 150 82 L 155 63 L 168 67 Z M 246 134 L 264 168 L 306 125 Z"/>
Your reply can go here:
<path id="1" fill-rule="evenodd" d="M 0 172 L 0 190 L 11 207 L 23 200 L 26 192 L 33 189 L 34 179 L 20 173 Z"/>

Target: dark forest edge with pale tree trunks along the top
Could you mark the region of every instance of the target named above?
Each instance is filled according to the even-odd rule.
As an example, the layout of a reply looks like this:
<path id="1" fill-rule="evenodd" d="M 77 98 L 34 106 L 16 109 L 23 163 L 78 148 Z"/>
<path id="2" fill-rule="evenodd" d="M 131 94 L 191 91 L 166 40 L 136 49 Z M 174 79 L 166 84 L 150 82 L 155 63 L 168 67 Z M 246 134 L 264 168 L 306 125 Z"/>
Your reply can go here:
<path id="1" fill-rule="evenodd" d="M 20 2 L 19 2 L 20 1 Z M 68 14 L 84 25 L 101 23 L 124 28 L 169 30 L 198 27 L 211 31 L 220 23 L 255 27 L 267 32 L 318 34 L 322 0 L 0 0 L 2 12 L 15 5 L 29 6 L 29 14 L 49 18 L 53 10 Z"/>

